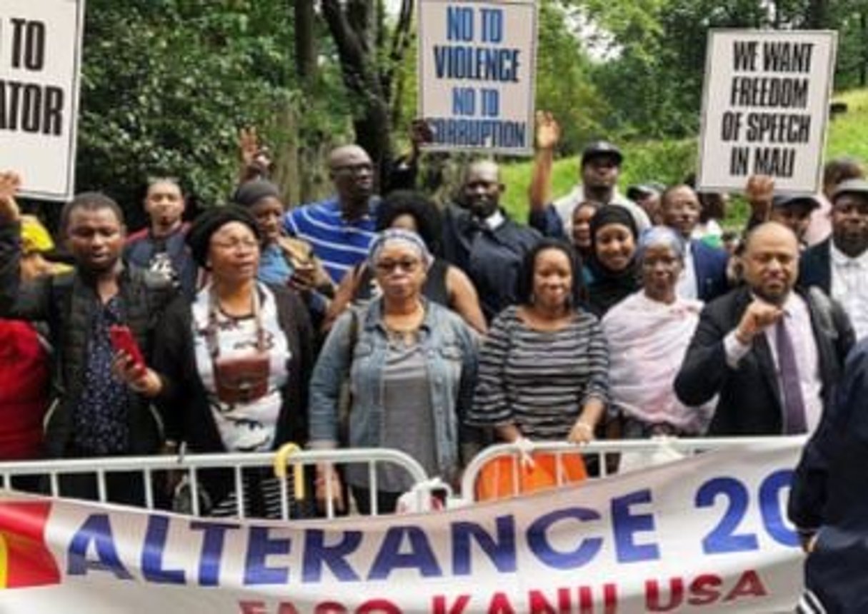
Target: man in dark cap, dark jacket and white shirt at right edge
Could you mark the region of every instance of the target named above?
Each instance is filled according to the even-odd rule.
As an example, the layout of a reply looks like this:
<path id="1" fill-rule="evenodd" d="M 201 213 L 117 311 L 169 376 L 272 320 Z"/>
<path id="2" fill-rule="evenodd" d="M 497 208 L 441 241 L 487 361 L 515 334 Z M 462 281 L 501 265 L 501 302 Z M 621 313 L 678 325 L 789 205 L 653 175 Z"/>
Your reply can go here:
<path id="1" fill-rule="evenodd" d="M 868 334 L 868 181 L 847 180 L 832 193 L 832 237 L 802 255 L 799 283 L 844 305 L 862 339 Z"/>

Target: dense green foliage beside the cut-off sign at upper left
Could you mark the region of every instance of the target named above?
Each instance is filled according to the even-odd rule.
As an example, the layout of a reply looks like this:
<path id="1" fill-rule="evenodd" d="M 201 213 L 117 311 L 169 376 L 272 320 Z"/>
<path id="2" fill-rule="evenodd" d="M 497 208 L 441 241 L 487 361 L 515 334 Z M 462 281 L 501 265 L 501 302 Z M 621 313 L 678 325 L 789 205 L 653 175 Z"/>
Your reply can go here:
<path id="1" fill-rule="evenodd" d="M 276 0 L 90 0 L 77 188 L 112 194 L 138 225 L 149 175 L 180 176 L 201 206 L 224 202 L 240 127 L 278 143 L 288 113 L 303 138 L 339 132 L 343 99 L 316 95 L 334 76 L 305 95 L 294 83 L 292 31 Z"/>

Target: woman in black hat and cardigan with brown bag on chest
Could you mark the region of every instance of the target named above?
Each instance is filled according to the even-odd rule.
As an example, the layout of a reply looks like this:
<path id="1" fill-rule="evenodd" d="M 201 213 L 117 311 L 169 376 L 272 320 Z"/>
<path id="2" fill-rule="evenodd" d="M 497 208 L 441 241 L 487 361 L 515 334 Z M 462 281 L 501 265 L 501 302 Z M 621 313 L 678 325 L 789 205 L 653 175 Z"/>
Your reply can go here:
<path id="1" fill-rule="evenodd" d="M 266 452 L 303 443 L 312 328 L 294 291 L 256 279 L 256 219 L 237 206 L 216 207 L 195 220 L 187 243 L 208 283 L 193 304 L 168 307 L 152 369 L 138 376 L 128 369 L 128 381 L 155 396 L 167 439 L 190 452 Z M 247 515 L 279 517 L 279 481 L 269 474 L 244 472 Z M 201 483 L 212 515 L 237 513 L 233 474 L 203 471 Z"/>

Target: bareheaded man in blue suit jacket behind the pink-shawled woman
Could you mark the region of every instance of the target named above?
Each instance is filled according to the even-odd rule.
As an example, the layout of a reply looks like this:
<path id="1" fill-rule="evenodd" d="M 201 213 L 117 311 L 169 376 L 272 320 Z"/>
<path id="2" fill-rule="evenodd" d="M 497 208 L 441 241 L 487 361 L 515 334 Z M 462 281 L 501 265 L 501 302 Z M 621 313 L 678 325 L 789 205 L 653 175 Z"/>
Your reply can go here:
<path id="1" fill-rule="evenodd" d="M 728 289 L 727 252 L 691 235 L 700 220 L 702 205 L 690 186 L 672 186 L 660 197 L 663 224 L 681 234 L 687 243 L 684 269 L 676 291 L 682 298 L 708 302 Z"/>

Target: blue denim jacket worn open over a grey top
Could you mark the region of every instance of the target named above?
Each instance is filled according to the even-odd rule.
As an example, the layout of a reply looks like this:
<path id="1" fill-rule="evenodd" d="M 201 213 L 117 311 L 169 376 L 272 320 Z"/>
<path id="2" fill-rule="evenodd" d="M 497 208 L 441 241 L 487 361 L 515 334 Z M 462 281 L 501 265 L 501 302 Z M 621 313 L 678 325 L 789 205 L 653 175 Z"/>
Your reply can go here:
<path id="1" fill-rule="evenodd" d="M 389 343 L 382 309 L 382 299 L 377 298 L 360 311 L 346 311 L 325 340 L 311 379 L 311 447 L 337 445 L 340 388 L 348 372 L 352 393 L 350 446 L 381 445 L 385 424 L 382 374 Z M 358 328 L 351 357 L 354 317 L 358 318 Z M 459 423 L 473 401 L 476 335 L 450 310 L 425 302 L 419 343 L 428 357 L 437 466 L 448 478 L 459 464 Z"/>

